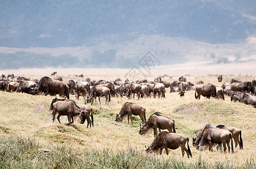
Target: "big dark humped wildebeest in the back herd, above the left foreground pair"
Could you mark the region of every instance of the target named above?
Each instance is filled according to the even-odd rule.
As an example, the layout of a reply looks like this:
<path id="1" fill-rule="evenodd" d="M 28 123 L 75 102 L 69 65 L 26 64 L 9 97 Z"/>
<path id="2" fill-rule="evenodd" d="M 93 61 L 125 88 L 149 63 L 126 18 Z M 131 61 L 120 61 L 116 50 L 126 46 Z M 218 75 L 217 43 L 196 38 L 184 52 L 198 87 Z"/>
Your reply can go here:
<path id="1" fill-rule="evenodd" d="M 44 92 L 45 95 L 59 95 L 66 96 L 69 99 L 69 87 L 67 84 L 61 81 L 53 80 L 49 77 L 42 77 L 37 83 L 36 87 L 32 90 L 32 95 L 36 95 L 39 92 Z"/>

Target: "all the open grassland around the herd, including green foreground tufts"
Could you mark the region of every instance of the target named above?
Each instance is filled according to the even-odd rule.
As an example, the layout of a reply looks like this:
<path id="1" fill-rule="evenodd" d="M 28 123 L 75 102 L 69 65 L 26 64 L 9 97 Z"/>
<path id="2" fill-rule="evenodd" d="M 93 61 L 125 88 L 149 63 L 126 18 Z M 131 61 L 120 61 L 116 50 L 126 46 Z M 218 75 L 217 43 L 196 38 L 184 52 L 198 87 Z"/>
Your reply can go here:
<path id="1" fill-rule="evenodd" d="M 32 77 L 34 78 L 34 77 Z M 40 77 L 38 77 L 40 79 Z M 67 77 L 70 78 L 70 77 Z M 117 77 L 91 77 L 91 79 L 116 79 Z M 74 79 L 75 78 L 70 78 Z M 230 82 L 231 77 L 223 77 Z M 251 81 L 252 77 L 238 77 Z M 213 83 L 217 77 L 189 77 L 187 81 Z M 173 80 L 172 80 L 173 81 Z M 74 123 L 67 126 L 67 117 L 52 122 L 49 110 L 53 96 L 32 96 L 0 92 L 0 168 L 255 168 L 256 109 L 250 105 L 225 100 L 195 100 L 194 91 L 185 97 L 166 89 L 165 99 L 111 98 L 109 105 L 101 98 L 91 105 L 94 127 Z M 75 100 L 75 96 L 71 98 Z M 84 103 L 82 99 L 75 100 Z M 116 113 L 127 101 L 146 108 L 146 118 L 161 112 L 175 119 L 176 132 L 189 137 L 192 158 L 181 156 L 181 149 L 170 150 L 169 155 L 146 154 L 144 146 L 154 139 L 153 132 L 139 135 L 140 119 L 134 117 L 134 127 L 115 122 Z M 87 123 L 87 122 L 86 122 Z M 244 149 L 234 148 L 234 153 L 204 150 L 192 145 L 194 132 L 206 124 L 224 124 L 241 128 Z"/>

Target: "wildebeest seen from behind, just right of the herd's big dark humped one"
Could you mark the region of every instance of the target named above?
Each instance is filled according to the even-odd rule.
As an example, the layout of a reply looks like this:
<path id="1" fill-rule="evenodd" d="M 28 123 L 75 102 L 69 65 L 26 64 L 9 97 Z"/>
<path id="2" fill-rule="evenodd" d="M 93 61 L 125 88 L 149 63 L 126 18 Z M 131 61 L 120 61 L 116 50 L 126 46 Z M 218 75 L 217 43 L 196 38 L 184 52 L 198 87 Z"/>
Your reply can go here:
<path id="1" fill-rule="evenodd" d="M 86 96 L 89 96 L 90 84 L 89 82 L 76 81 L 75 83 L 75 98 L 79 100 L 79 96 L 82 96 L 86 99 Z"/>

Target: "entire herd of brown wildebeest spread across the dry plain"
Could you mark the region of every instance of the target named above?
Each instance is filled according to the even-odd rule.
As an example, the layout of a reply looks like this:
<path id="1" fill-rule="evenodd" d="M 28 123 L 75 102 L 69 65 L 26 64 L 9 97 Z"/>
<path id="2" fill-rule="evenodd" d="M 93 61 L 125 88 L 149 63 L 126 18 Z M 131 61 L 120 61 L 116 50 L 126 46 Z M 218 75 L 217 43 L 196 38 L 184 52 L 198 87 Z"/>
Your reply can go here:
<path id="1" fill-rule="evenodd" d="M 10 79 L 11 77 L 11 79 Z M 218 77 L 220 82 L 220 77 Z M 222 77 L 221 77 L 222 81 Z M 121 81 L 121 79 L 111 80 L 100 80 L 91 81 L 87 78 L 86 81 L 58 81 L 50 77 L 42 77 L 40 80 L 30 80 L 25 77 L 18 77 L 15 79 L 14 75 L 1 76 L 0 79 L 0 90 L 7 92 L 25 92 L 31 95 L 51 95 L 60 97 L 66 97 L 66 99 L 55 99 L 50 104 L 50 109 L 53 110 L 53 122 L 58 113 L 57 119 L 61 123 L 61 115 L 67 115 L 69 124 L 75 122 L 83 124 L 87 121 L 87 127 L 93 126 L 93 111 L 92 108 L 87 104 L 79 104 L 74 100 L 70 100 L 70 95 L 75 95 L 76 100 L 79 100 L 79 96 L 82 96 L 85 103 L 96 103 L 96 98 L 105 97 L 105 104 L 109 103 L 110 97 L 123 97 L 127 99 L 136 99 L 153 97 L 153 98 L 165 98 L 165 92 L 167 88 L 170 88 L 170 92 L 178 92 L 181 97 L 185 96 L 186 91 L 195 90 L 195 99 L 200 99 L 200 96 L 204 96 L 210 99 L 215 97 L 224 100 L 224 94 L 231 96 L 231 101 L 240 101 L 244 104 L 253 105 L 256 108 L 256 97 L 255 95 L 256 79 L 251 82 L 239 82 L 234 79 L 231 83 L 223 83 L 221 87 L 215 86 L 214 84 L 203 84 L 202 81 L 198 81 L 193 84 L 186 82 L 186 78 L 183 76 L 178 81 L 162 81 L 161 77 L 155 79 L 155 81 L 148 82 L 144 81 L 130 82 L 129 79 Z M 136 95 L 135 95 L 136 94 Z M 136 98 L 135 98 L 136 96 Z M 139 115 L 142 123 L 140 124 L 139 134 L 144 135 L 150 129 L 153 129 L 155 139 L 150 146 L 146 147 L 146 152 L 168 154 L 169 149 L 177 149 L 181 147 L 182 156 L 185 152 L 187 157 L 192 157 L 191 150 L 189 148 L 189 138 L 183 134 L 177 134 L 175 129 L 174 119 L 160 112 L 155 112 L 150 115 L 146 120 L 146 109 L 142 105 L 136 103 L 127 102 L 123 104 L 120 113 L 116 115 L 116 121 L 122 122 L 123 118 L 127 116 L 131 119 L 133 125 L 132 115 Z M 91 116 L 91 119 L 90 119 Z M 75 119 L 75 120 L 74 120 Z M 134 125 L 133 125 L 134 126 Z M 157 128 L 159 134 L 157 134 Z M 169 132 L 161 130 L 168 130 Z M 238 138 L 240 136 L 240 138 Z M 233 152 L 233 141 L 235 146 L 243 148 L 241 130 L 236 127 L 218 125 L 212 127 L 210 124 L 206 124 L 202 131 L 200 131 L 197 137 L 193 138 L 193 146 L 197 149 L 202 150 L 205 145 L 212 151 L 212 146 L 216 145 L 217 149 L 222 145 L 224 151 Z M 186 148 L 187 143 L 187 148 Z"/>

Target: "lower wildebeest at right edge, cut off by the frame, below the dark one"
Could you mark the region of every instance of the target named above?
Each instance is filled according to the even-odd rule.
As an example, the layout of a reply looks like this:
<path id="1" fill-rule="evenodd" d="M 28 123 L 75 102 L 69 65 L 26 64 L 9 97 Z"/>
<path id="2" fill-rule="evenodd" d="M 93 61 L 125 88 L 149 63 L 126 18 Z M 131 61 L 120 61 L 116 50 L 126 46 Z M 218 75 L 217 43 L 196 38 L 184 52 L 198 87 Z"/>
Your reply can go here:
<path id="1" fill-rule="evenodd" d="M 241 103 L 249 104 L 256 108 L 256 97 L 245 92 L 232 92 L 231 101 L 240 101 Z"/>

